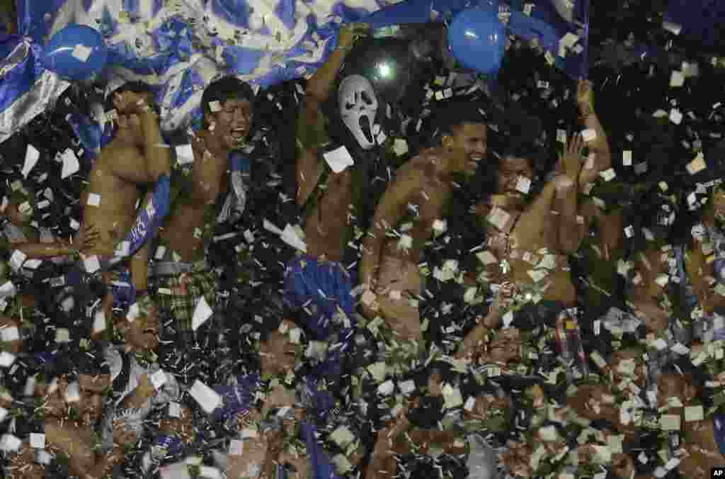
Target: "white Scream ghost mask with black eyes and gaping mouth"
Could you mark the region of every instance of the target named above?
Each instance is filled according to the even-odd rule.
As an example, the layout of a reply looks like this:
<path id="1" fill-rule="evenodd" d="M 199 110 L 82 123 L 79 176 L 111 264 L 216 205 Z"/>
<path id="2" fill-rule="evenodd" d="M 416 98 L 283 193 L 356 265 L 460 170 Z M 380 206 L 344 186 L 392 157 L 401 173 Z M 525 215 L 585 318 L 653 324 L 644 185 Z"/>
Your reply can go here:
<path id="1" fill-rule="evenodd" d="M 372 83 L 363 75 L 349 75 L 340 83 L 337 102 L 342 122 L 355 136 L 360 147 L 370 150 L 375 146 L 373 122 L 378 111 L 378 99 Z M 370 136 L 366 136 L 366 133 Z"/>

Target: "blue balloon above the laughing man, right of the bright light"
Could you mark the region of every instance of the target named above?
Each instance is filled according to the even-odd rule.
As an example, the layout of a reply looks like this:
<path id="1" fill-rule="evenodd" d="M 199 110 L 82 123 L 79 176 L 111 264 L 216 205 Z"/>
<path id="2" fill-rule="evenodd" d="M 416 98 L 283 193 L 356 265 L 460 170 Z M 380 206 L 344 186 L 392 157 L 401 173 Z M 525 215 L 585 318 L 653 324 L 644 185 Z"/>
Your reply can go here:
<path id="1" fill-rule="evenodd" d="M 448 28 L 448 48 L 465 67 L 495 73 L 501 67 L 506 42 L 504 25 L 494 9 L 459 12 Z"/>

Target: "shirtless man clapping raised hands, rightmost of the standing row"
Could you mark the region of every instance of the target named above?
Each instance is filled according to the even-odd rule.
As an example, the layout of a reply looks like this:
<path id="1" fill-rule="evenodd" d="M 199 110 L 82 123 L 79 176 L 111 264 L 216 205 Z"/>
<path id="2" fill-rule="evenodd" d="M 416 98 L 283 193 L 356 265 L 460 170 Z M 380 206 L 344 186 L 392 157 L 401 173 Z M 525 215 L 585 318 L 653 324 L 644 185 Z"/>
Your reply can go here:
<path id="1" fill-rule="evenodd" d="M 498 261 L 486 266 L 489 279 L 502 288 L 513 284 L 515 292 L 540 296 L 540 301 L 555 304 L 560 313 L 555 324 L 562 348 L 571 334 L 579 335 L 576 322 L 576 290 L 569 272 L 567 255 L 579 247 L 576 216 L 576 184 L 581 169 L 583 141 L 576 136 L 560 159 L 560 173 L 544 184 L 533 199 L 528 189 L 534 171 L 529 160 L 505 155 L 502 157 L 496 194 L 488 202 L 475 207 L 476 214 L 486 221 L 489 250 Z M 523 191 L 527 193 L 524 193 Z M 521 294 L 519 294 L 520 296 Z M 500 309 L 500 308 L 499 308 Z M 500 312 L 476 326 L 464 341 L 458 356 L 475 355 L 489 327 L 495 327 Z M 537 326 L 514 324 L 533 329 Z M 504 324 L 508 327 L 509 324 Z M 565 329 L 566 326 L 566 329 Z M 574 360 L 582 372 L 587 363 L 584 352 L 561 351 L 565 361 Z"/>

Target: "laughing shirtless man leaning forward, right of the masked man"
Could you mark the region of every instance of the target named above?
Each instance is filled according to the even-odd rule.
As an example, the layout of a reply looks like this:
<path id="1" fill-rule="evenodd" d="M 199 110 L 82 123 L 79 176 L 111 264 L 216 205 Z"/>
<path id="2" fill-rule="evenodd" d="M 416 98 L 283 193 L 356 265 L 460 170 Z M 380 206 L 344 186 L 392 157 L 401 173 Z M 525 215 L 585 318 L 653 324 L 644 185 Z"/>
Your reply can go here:
<path id="1" fill-rule="evenodd" d="M 421 337 L 418 306 L 410 301 L 423 288 L 418 272 L 423 243 L 450 199 L 454 176 L 473 176 L 486 157 L 486 125 L 479 107 L 461 102 L 455 108 L 460 116 L 444 127 L 442 147 L 426 150 L 399 169 L 361 248 L 360 282 L 370 290 L 362 298 L 363 314 L 372 319 L 377 311 L 406 339 Z"/>

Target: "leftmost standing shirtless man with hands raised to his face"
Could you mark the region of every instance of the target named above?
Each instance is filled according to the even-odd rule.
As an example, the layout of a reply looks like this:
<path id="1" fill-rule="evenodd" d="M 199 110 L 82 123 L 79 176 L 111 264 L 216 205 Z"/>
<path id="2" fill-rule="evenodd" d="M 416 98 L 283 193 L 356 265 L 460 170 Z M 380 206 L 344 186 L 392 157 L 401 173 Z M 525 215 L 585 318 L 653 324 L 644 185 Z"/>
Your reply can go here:
<path id="1" fill-rule="evenodd" d="M 101 268 L 114 258 L 117 246 L 128 234 L 136 218 L 136 202 L 141 200 L 139 184 L 154 184 L 170 173 L 169 149 L 159 130 L 158 115 L 152 107 L 152 92 L 143 84 L 129 83 L 113 93 L 118 114 L 114 139 L 101 150 L 91 171 L 88 189 L 81 196 L 83 223 L 99 229 L 99 240 L 88 250 L 97 255 Z M 141 247 L 130 260 L 130 274 L 137 297 L 146 294 L 149 245 Z M 104 273 L 104 282 L 109 282 Z M 110 317 L 110 311 L 105 311 Z"/>

